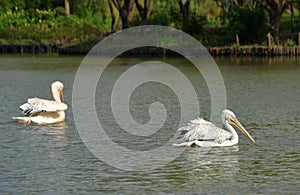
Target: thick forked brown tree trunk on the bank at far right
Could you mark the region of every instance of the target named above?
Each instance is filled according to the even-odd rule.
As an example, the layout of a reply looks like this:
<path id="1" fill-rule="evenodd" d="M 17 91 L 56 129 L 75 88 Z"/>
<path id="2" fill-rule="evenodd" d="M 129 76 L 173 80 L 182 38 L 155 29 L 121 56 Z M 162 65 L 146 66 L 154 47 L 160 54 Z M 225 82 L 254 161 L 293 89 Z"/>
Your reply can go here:
<path id="1" fill-rule="evenodd" d="M 286 8 L 286 0 L 261 0 L 258 1 L 260 5 L 265 8 L 269 14 L 269 25 L 271 34 L 276 44 L 279 44 L 279 25 L 281 15 Z"/>

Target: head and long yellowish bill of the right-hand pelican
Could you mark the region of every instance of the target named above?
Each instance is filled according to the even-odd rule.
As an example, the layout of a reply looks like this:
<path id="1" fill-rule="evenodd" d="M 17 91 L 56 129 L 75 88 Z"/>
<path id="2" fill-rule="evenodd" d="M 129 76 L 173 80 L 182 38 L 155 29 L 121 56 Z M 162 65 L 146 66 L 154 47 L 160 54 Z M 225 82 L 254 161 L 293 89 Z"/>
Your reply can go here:
<path id="1" fill-rule="evenodd" d="M 248 131 L 246 131 L 246 129 L 238 121 L 235 114 L 231 110 L 226 109 L 222 112 L 222 121 L 223 124 L 227 123 L 229 125 L 237 127 L 246 137 L 248 137 L 253 143 L 255 143 L 255 140 L 251 137 Z"/>

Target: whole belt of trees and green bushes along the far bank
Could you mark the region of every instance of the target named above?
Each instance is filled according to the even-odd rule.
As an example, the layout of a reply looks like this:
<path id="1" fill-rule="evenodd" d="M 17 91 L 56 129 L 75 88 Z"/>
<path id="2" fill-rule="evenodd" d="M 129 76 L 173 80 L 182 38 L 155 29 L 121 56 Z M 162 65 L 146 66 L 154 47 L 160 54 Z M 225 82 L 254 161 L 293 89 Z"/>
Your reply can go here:
<path id="1" fill-rule="evenodd" d="M 182 29 L 205 46 L 297 45 L 300 3 L 289 0 L 0 0 L 0 44 L 86 45 L 141 24 Z M 272 18 L 271 18 L 272 17 Z"/>

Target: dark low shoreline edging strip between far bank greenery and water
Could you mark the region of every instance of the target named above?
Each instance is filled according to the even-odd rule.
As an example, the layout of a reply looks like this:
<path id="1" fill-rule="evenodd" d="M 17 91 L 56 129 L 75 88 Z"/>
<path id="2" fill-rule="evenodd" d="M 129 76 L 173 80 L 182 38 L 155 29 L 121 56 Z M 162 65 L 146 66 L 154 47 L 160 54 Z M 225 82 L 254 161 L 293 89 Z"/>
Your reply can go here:
<path id="1" fill-rule="evenodd" d="M 0 45 L 1 54 L 59 54 L 86 55 L 92 47 L 59 47 L 56 44 L 11 44 Z M 212 56 L 295 56 L 300 57 L 300 46 L 221 46 L 207 47 Z M 180 56 L 180 54 L 162 47 L 135 48 L 122 56 Z"/>

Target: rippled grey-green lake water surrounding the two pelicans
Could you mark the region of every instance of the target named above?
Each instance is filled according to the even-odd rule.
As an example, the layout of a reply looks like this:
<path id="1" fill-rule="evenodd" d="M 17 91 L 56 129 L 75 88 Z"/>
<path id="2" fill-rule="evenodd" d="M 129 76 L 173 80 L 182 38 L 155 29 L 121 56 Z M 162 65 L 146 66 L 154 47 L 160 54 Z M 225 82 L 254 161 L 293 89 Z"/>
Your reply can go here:
<path id="1" fill-rule="evenodd" d="M 298 194 L 300 191 L 300 60 L 216 59 L 224 78 L 227 106 L 256 139 L 240 135 L 239 146 L 190 148 L 157 169 L 124 171 L 96 158 L 84 145 L 72 113 L 72 88 L 82 58 L 57 56 L 0 57 L 0 192 L 7 194 Z M 149 59 L 147 59 L 149 60 Z M 161 59 L 151 59 L 161 60 Z M 136 139 L 113 122 L 105 101 L 114 79 L 141 59 L 118 59 L 109 66 L 96 92 L 96 111 L 107 134 L 129 149 L 149 150 L 168 140 L 178 126 L 178 99 L 157 83 L 137 89 L 130 103 L 133 118 L 149 120 L 150 103 L 172 112 L 155 139 Z M 210 96 L 195 68 L 182 59 L 165 59 L 195 85 L 201 115 L 210 113 Z M 163 69 L 162 77 L 172 77 Z M 61 80 L 69 109 L 65 123 L 20 125 L 18 106 L 29 97 L 52 98 L 49 84 Z M 79 113 L 84 114 L 84 113 Z M 170 116 L 169 116 L 170 115 Z M 115 133 L 117 132 L 117 133 Z M 107 150 L 108 154 L 111 151 Z M 112 154 L 113 155 L 113 154 Z M 126 159 L 124 160 L 126 163 Z"/>

